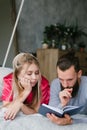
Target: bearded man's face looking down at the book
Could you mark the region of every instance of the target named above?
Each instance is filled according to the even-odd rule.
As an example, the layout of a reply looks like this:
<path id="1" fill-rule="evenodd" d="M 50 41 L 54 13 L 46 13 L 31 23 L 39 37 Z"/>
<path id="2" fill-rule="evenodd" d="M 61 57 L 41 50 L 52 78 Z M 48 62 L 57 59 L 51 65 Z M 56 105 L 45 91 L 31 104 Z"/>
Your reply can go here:
<path id="1" fill-rule="evenodd" d="M 78 91 L 81 72 L 77 73 L 74 69 L 74 66 L 71 66 L 69 69 L 65 71 L 61 71 L 57 67 L 57 73 L 61 83 L 61 89 L 63 90 L 72 87 L 73 88 L 72 96 L 73 96 L 74 93 Z"/>

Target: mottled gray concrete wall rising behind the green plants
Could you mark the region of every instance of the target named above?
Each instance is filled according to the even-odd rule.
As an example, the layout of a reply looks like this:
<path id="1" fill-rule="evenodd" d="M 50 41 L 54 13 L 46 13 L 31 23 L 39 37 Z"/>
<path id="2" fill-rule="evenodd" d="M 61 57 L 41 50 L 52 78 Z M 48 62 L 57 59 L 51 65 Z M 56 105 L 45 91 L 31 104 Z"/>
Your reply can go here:
<path id="1" fill-rule="evenodd" d="M 20 2 L 16 0 L 17 11 Z M 87 0 L 25 0 L 18 25 L 19 51 L 36 52 L 44 27 L 65 19 L 67 23 L 78 20 L 87 32 Z"/>

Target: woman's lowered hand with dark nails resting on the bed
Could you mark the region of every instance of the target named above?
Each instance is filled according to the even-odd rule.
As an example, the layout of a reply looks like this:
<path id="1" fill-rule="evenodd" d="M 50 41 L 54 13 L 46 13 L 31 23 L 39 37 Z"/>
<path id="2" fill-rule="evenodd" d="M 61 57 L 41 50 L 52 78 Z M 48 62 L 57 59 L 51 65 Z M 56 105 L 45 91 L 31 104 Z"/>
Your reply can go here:
<path id="1" fill-rule="evenodd" d="M 19 100 L 15 100 L 10 103 L 7 106 L 6 112 L 4 113 L 4 119 L 13 120 L 16 117 L 17 113 L 20 111 L 22 105 L 23 104 Z"/>

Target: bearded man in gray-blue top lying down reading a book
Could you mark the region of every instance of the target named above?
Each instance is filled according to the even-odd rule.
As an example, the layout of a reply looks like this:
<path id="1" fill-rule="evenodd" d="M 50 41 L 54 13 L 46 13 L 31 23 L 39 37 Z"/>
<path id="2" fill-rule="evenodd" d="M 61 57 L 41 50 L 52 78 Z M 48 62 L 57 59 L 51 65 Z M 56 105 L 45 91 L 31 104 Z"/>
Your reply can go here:
<path id="1" fill-rule="evenodd" d="M 67 105 L 84 105 L 80 113 L 87 114 L 87 77 L 82 76 L 79 59 L 75 56 L 75 52 L 71 51 L 61 56 L 56 67 L 58 78 L 51 83 L 49 105 L 61 109 Z M 59 118 L 47 113 L 47 117 L 58 125 L 73 123 L 68 114 Z"/>

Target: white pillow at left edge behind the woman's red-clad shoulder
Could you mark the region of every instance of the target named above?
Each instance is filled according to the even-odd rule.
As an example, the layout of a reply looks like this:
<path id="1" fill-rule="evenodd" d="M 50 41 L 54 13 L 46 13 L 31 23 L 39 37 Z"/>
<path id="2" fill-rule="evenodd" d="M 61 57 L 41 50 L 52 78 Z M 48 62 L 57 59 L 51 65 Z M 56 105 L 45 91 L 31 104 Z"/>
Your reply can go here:
<path id="1" fill-rule="evenodd" d="M 2 95 L 2 87 L 3 87 L 3 77 L 11 73 L 13 69 L 6 68 L 6 67 L 0 67 L 0 101 L 1 101 L 1 95 Z"/>

